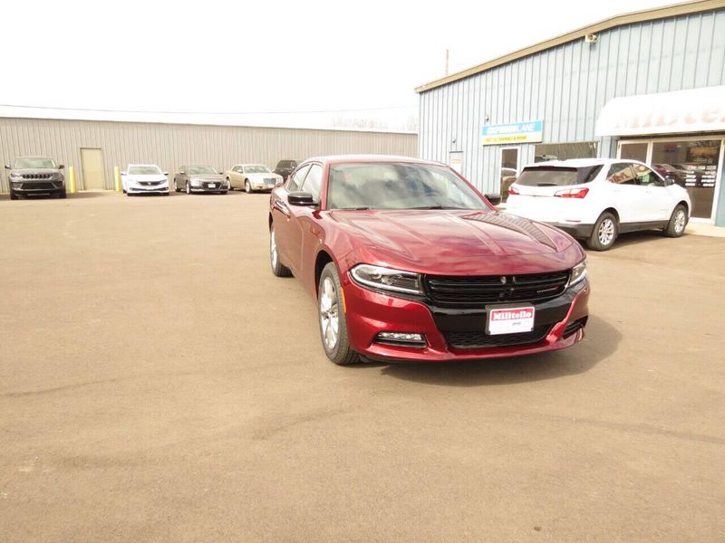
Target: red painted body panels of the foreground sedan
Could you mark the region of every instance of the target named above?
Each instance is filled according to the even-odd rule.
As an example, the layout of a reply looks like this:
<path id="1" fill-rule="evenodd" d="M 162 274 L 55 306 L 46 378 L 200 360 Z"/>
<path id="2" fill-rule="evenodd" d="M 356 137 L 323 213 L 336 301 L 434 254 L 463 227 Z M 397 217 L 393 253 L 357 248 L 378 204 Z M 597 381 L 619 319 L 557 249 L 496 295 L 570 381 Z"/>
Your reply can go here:
<path id="1" fill-rule="evenodd" d="M 272 192 L 269 212 L 269 224 L 275 226 L 281 261 L 314 299 L 321 271 L 318 258 L 329 258 L 335 263 L 343 286 L 349 340 L 355 351 L 368 357 L 396 360 L 480 359 L 567 348 L 584 337 L 589 297 L 586 279 L 576 285 L 575 292 L 568 292 L 567 308 L 562 310 L 560 320 L 551 323 L 545 338 L 525 345 L 483 348 L 451 347 L 436 324 L 430 303 L 372 291 L 353 281 L 350 270 L 360 263 L 421 274 L 465 277 L 568 271 L 585 259 L 585 252 L 568 234 L 546 224 L 501 214 L 478 191 L 488 211 L 327 211 L 326 189 L 331 165 L 361 162 L 441 166 L 400 157 L 310 159 L 298 169 L 310 163 L 323 168 L 320 204 L 317 207 L 288 205 L 288 182 Z M 483 310 L 481 307 L 478 312 Z M 567 323 L 580 319 L 582 326 L 563 338 Z M 421 333 L 427 345 L 418 348 L 376 343 L 375 337 L 381 331 Z"/>

